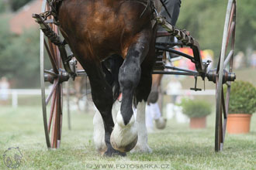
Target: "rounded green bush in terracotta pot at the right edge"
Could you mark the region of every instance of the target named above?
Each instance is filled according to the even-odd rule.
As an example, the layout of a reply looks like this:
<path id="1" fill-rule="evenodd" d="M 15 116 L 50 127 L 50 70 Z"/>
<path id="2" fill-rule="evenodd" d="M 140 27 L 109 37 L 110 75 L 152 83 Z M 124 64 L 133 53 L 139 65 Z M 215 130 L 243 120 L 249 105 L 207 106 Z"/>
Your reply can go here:
<path id="1" fill-rule="evenodd" d="M 225 92 L 227 89 L 225 89 Z M 249 82 L 235 81 L 230 92 L 227 131 L 244 134 L 250 131 L 251 114 L 256 111 L 256 88 Z"/>

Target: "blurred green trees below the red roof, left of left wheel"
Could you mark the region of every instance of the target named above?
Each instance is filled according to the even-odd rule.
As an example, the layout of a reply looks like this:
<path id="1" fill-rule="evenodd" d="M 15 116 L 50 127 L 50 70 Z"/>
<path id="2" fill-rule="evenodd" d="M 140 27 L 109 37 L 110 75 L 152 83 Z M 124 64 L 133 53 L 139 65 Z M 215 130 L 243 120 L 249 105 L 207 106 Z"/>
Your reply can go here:
<path id="1" fill-rule="evenodd" d="M 6 27 L 8 24 L 6 24 Z M 16 80 L 16 87 L 35 87 L 39 83 L 39 30 L 30 29 L 14 36 L 1 27 L 0 76 Z"/>

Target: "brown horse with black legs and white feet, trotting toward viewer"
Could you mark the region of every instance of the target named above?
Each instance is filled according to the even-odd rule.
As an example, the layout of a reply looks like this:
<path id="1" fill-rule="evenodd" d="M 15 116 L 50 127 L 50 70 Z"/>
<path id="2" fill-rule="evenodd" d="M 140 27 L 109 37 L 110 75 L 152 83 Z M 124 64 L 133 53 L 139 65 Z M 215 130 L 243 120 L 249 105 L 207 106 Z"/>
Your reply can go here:
<path id="1" fill-rule="evenodd" d="M 124 156 L 133 148 L 150 151 L 143 122 L 156 58 L 153 1 L 59 2 L 59 28 L 88 74 L 92 100 L 104 122 L 105 134 L 100 131 L 106 145 L 104 154 Z M 104 61 L 109 57 L 111 62 L 106 66 Z M 114 123 L 112 105 L 119 93 L 123 99 Z"/>

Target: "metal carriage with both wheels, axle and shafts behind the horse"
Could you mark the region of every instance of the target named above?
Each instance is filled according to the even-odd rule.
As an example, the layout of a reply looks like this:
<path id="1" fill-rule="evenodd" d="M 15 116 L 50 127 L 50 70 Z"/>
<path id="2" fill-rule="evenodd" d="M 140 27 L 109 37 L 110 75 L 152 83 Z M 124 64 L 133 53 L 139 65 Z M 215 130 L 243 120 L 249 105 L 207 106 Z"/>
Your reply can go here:
<path id="1" fill-rule="evenodd" d="M 57 0 L 54 0 L 57 1 Z M 53 2 L 54 2 L 53 1 Z M 47 148 L 59 148 L 61 145 L 61 129 L 63 117 L 63 83 L 70 78 L 74 80 L 76 76 L 85 76 L 85 70 L 76 70 L 77 61 L 74 56 L 67 55 L 67 42 L 61 40 L 58 30 L 56 15 L 54 15 L 54 5 L 50 0 L 43 0 L 42 13 L 33 14 L 33 18 L 40 24 L 40 81 L 42 90 L 43 124 L 46 136 Z M 227 14 L 223 30 L 223 41 L 220 58 L 217 68 L 207 71 L 210 61 L 203 62 L 200 56 L 199 43 L 190 36 L 189 32 L 171 26 L 164 17 L 157 15 L 158 25 L 164 27 L 166 32 L 157 32 L 157 36 L 175 36 L 178 42 L 158 42 L 156 50 L 159 52 L 176 53 L 190 59 L 195 63 L 196 70 L 185 70 L 174 66 L 165 66 L 162 57 L 157 57 L 153 73 L 175 74 L 185 76 L 195 76 L 195 87 L 191 90 L 200 90 L 196 87 L 197 77 L 206 77 L 209 81 L 216 83 L 216 128 L 215 128 L 215 151 L 223 150 L 223 143 L 226 134 L 227 114 L 230 99 L 231 82 L 236 79 L 233 73 L 234 42 L 236 26 L 236 0 L 229 0 L 227 4 Z M 189 46 L 193 51 L 193 56 L 181 53 L 172 49 L 173 46 Z M 228 47 L 230 46 L 230 47 Z M 50 58 L 52 69 L 45 70 L 44 50 Z M 229 50 L 229 52 L 228 52 Z M 50 94 L 46 97 L 45 83 L 53 84 Z M 224 95 L 223 86 L 227 85 L 227 94 Z M 50 104 L 49 104 L 50 103 Z M 50 114 L 47 120 L 47 105 Z M 69 116 L 69 114 L 68 114 Z"/>

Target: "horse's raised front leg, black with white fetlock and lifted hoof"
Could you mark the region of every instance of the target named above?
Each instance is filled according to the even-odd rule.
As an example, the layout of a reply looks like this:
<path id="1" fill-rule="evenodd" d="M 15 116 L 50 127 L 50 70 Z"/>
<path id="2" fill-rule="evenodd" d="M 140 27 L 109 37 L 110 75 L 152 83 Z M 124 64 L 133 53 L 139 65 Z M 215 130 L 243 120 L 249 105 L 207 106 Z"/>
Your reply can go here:
<path id="1" fill-rule="evenodd" d="M 134 37 L 119 70 L 119 84 L 123 97 L 110 140 L 112 147 L 118 151 L 130 151 L 137 144 L 138 127 L 134 117 L 133 101 L 140 82 L 140 64 L 148 53 L 151 35 L 150 29 L 144 29 Z"/>

